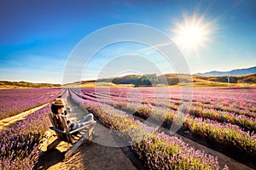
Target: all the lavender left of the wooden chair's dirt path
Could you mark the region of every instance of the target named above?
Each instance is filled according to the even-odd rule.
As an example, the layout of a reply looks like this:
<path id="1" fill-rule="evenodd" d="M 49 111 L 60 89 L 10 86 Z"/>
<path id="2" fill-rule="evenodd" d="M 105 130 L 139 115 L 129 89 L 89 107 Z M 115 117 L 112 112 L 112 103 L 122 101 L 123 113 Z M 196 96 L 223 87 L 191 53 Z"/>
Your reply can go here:
<path id="1" fill-rule="evenodd" d="M 35 106 L 67 98 L 67 91 L 51 88 L 0 90 L 1 117 L 18 115 Z M 50 104 L 33 112 L 26 119 L 0 131 L 0 169 L 32 169 L 38 161 L 38 145 L 49 130 Z"/>

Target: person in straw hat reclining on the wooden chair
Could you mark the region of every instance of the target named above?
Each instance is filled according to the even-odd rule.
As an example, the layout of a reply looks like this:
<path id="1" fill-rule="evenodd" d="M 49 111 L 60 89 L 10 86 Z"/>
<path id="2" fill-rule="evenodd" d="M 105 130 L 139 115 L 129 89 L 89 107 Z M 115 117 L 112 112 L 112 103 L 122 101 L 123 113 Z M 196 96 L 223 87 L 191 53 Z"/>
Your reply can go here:
<path id="1" fill-rule="evenodd" d="M 51 111 L 55 115 L 66 116 L 64 106 L 65 106 L 64 99 L 59 99 L 59 98 L 55 99 L 51 105 Z M 67 118 L 67 126 L 70 128 L 70 130 L 74 130 L 79 127 L 84 127 L 85 125 L 90 124 L 90 121 L 94 121 L 93 115 L 91 113 L 84 116 L 84 119 L 79 120 L 78 122 L 72 122 L 70 119 Z"/>

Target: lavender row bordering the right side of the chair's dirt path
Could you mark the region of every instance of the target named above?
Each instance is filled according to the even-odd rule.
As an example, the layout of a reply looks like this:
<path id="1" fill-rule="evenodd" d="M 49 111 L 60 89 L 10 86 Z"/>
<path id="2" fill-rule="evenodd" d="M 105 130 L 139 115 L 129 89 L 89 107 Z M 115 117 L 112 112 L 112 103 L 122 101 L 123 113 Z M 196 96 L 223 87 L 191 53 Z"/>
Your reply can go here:
<path id="1" fill-rule="evenodd" d="M 94 113 L 107 127 L 118 130 L 122 136 L 131 139 L 132 150 L 150 169 L 219 169 L 218 157 L 195 150 L 182 139 L 158 133 L 136 121 L 133 116 L 119 111 L 111 105 L 101 104 L 89 99 L 81 99 L 76 92 L 72 99 L 85 109 Z M 143 139 L 143 140 L 142 140 Z M 224 167 L 228 169 L 228 167 Z"/>

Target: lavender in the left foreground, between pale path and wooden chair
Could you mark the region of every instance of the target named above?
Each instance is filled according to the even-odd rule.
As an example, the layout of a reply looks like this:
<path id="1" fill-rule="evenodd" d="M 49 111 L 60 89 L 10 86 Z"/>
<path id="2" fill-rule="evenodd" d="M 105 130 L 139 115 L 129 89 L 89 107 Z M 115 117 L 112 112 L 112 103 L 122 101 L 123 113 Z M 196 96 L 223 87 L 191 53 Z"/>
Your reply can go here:
<path id="1" fill-rule="evenodd" d="M 30 90 L 31 93 L 34 92 L 33 89 Z M 54 99 L 52 96 L 55 96 L 55 93 L 47 92 L 44 97 Z M 67 98 L 67 91 L 64 91 L 62 98 Z M 20 170 L 34 167 L 39 156 L 38 144 L 49 129 L 49 111 L 50 105 L 46 105 L 0 132 L 0 169 Z"/>

